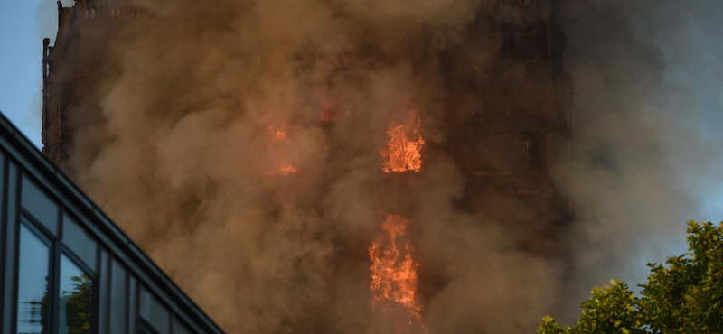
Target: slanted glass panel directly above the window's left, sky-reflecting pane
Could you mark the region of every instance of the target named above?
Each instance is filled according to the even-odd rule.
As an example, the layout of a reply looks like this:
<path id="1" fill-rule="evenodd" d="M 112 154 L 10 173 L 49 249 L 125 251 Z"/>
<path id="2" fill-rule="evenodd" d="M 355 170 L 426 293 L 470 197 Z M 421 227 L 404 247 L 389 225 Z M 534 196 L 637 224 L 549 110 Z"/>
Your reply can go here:
<path id="1" fill-rule="evenodd" d="M 58 203 L 42 190 L 35 181 L 23 175 L 23 189 L 20 191 L 20 204 L 28 210 L 33 218 L 58 235 Z"/>

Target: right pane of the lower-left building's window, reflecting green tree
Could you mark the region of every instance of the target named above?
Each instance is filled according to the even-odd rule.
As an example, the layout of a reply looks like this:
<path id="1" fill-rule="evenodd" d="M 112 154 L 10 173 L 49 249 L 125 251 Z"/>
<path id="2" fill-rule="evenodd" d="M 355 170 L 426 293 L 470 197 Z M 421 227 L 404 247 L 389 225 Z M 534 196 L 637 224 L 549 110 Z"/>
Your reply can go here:
<path id="1" fill-rule="evenodd" d="M 93 281 L 66 255 L 61 255 L 59 333 L 90 333 Z"/>

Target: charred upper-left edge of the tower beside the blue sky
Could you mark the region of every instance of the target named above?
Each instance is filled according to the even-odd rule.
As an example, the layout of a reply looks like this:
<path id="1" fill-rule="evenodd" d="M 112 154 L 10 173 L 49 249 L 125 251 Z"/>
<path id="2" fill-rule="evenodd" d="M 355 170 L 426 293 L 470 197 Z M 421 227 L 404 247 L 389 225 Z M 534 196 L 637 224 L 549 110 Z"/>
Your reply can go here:
<path id="1" fill-rule="evenodd" d="M 101 70 L 108 69 L 108 58 L 97 45 L 107 43 L 118 24 L 141 14 L 118 3 L 127 2 L 76 1 L 63 7 L 59 1 L 55 45 L 42 41 L 42 153 L 66 169 L 76 131 L 92 131 L 88 127 L 102 117 L 96 98 L 103 89 L 100 79 L 114 74 Z"/>

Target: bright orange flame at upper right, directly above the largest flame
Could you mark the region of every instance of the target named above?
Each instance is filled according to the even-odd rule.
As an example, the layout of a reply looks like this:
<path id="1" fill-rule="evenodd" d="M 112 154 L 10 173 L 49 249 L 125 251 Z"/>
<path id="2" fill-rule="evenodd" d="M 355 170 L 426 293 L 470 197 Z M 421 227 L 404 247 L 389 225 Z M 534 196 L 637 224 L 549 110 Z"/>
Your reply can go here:
<path id="1" fill-rule="evenodd" d="M 421 135 L 421 122 L 414 106 L 409 109 L 407 124 L 395 125 L 392 123 L 387 130 L 390 142 L 387 149 L 381 151 L 384 159 L 382 169 L 384 172 L 419 172 L 422 168 L 422 147 L 424 139 Z"/>

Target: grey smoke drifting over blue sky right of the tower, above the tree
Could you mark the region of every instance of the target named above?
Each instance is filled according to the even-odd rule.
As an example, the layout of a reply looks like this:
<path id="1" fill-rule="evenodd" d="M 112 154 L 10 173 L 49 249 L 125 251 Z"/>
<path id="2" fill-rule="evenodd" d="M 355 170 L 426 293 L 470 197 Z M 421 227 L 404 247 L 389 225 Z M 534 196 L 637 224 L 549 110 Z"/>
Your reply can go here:
<path id="1" fill-rule="evenodd" d="M 685 221 L 719 221 L 723 48 L 711 1 L 563 6 L 575 79 L 577 295 L 686 251 Z"/>

